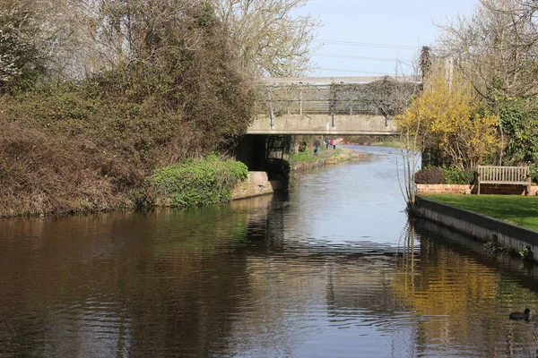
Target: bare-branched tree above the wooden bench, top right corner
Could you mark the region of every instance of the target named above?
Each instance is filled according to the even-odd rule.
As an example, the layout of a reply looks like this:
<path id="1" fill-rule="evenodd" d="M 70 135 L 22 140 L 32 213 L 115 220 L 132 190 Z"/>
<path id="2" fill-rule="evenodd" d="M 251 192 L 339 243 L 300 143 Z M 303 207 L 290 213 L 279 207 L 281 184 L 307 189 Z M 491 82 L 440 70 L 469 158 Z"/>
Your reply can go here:
<path id="1" fill-rule="evenodd" d="M 485 100 L 538 91 L 535 1 L 481 0 L 473 14 L 441 25 L 438 55 L 450 56 Z"/>

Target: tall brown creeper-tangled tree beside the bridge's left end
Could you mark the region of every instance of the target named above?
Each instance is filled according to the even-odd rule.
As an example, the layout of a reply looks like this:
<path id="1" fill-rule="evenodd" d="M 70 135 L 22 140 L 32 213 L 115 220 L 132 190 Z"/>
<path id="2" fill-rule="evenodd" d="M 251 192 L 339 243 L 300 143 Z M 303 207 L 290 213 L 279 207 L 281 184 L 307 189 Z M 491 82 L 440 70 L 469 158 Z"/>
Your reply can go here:
<path id="1" fill-rule="evenodd" d="M 213 148 L 245 132 L 252 118 L 252 79 L 242 71 L 237 50 L 211 4 L 103 3 L 95 15 L 95 36 L 108 34 L 109 46 L 124 36 L 129 41 L 127 48 L 117 49 L 113 71 L 94 79 L 99 89 L 151 107 L 153 113 L 181 117 L 203 132 Z"/>

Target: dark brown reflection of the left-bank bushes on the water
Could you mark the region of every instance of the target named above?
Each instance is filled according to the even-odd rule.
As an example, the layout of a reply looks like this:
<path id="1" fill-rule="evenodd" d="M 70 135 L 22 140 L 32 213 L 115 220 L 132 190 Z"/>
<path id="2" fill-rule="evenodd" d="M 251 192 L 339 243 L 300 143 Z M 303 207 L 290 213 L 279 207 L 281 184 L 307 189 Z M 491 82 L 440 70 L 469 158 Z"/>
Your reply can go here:
<path id="1" fill-rule="evenodd" d="M 13 233 L 9 260 L 0 260 L 18 276 L 3 276 L 3 349 L 32 355 L 48 342 L 60 356 L 222 352 L 213 344 L 228 336 L 248 289 L 245 261 L 229 256 L 247 222 L 247 212 L 230 207 L 36 221 L 43 227 L 31 250 Z"/>

